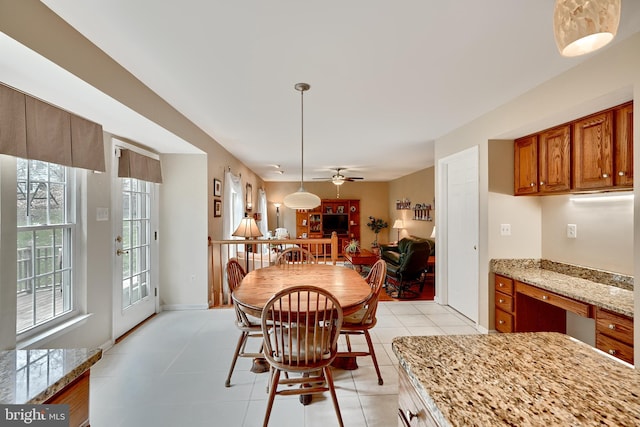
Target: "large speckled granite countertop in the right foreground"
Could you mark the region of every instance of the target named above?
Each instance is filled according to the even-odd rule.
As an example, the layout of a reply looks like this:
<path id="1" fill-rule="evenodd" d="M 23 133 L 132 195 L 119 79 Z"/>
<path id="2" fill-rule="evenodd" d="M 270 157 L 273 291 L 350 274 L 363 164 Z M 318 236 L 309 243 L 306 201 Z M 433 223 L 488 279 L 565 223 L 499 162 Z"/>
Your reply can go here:
<path id="1" fill-rule="evenodd" d="M 640 425 L 640 374 L 555 332 L 396 337 L 441 425 Z"/>

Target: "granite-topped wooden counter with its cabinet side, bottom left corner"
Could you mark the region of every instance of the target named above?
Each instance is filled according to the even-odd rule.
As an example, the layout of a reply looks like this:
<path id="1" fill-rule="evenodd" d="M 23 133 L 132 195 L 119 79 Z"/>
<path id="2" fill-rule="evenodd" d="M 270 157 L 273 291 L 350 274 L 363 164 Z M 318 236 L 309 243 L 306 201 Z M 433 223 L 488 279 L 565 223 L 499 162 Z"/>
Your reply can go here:
<path id="1" fill-rule="evenodd" d="M 89 425 L 89 372 L 100 349 L 0 351 L 0 403 L 68 404 L 69 426 Z"/>

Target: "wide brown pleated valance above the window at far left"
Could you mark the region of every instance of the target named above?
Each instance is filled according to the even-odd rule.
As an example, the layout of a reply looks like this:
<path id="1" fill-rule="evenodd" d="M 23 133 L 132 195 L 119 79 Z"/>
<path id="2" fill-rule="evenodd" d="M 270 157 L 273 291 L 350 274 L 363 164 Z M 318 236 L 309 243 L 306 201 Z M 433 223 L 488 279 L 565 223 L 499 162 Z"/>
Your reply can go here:
<path id="1" fill-rule="evenodd" d="M 0 153 L 106 171 L 101 125 L 2 84 Z"/>

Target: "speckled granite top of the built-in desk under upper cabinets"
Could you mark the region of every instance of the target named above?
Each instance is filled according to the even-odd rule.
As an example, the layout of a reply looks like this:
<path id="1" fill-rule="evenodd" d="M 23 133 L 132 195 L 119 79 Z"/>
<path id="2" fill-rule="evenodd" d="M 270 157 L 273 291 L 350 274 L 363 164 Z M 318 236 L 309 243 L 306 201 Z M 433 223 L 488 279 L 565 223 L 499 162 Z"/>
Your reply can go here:
<path id="1" fill-rule="evenodd" d="M 547 260 L 491 260 L 490 269 L 557 294 L 633 317 L 633 278 Z M 558 272 L 562 271 L 562 272 Z M 616 281 L 616 276 L 619 279 Z M 587 279 L 587 278 L 589 279 Z M 631 277 L 631 279 L 629 279 Z M 594 280 L 605 281 L 608 284 Z M 631 288 L 625 284 L 631 283 Z M 611 285 L 623 283 L 623 286 Z"/>

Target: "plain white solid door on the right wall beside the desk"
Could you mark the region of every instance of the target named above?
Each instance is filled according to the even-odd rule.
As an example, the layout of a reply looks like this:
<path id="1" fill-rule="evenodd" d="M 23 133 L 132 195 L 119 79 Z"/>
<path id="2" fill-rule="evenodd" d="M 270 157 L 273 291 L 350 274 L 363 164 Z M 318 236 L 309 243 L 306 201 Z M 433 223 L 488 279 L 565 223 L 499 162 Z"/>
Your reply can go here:
<path id="1" fill-rule="evenodd" d="M 446 164 L 447 302 L 478 321 L 478 149 L 457 153 Z"/>

